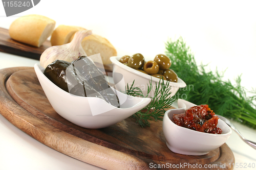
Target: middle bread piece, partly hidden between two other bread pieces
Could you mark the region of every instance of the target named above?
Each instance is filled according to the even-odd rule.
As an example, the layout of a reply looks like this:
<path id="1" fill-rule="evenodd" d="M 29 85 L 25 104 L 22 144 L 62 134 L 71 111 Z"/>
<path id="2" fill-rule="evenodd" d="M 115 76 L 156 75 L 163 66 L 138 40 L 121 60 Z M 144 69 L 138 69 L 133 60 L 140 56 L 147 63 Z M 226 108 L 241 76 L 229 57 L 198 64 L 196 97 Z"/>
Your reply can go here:
<path id="1" fill-rule="evenodd" d="M 86 29 L 76 26 L 59 25 L 52 33 L 51 44 L 54 46 L 69 43 L 73 39 L 75 33 L 80 30 Z"/>

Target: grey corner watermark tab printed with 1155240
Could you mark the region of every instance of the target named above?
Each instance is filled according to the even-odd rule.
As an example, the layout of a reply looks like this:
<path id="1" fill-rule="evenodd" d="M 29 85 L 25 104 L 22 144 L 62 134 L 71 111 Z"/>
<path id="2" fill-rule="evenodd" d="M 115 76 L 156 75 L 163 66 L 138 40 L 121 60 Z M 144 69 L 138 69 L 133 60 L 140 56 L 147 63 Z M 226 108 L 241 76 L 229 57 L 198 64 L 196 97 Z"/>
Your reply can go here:
<path id="1" fill-rule="evenodd" d="M 12 0 L 2 0 L 3 6 L 5 9 L 6 16 L 12 16 L 24 11 L 29 10 L 30 8 L 33 8 L 36 6 L 40 0 L 18 0 L 18 1 L 12 1 Z"/>

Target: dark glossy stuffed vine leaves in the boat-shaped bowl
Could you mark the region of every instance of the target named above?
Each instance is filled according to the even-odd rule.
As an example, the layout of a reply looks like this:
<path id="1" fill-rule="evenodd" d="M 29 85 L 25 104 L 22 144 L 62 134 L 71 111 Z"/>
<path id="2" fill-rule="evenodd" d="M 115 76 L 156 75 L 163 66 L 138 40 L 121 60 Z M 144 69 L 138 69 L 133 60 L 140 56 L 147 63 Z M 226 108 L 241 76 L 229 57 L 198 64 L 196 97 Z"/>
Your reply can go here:
<path id="1" fill-rule="evenodd" d="M 70 62 L 55 60 L 44 74 L 59 88 L 78 96 L 97 97 L 120 107 L 118 96 L 111 89 L 103 73 L 89 58 L 83 56 Z"/>

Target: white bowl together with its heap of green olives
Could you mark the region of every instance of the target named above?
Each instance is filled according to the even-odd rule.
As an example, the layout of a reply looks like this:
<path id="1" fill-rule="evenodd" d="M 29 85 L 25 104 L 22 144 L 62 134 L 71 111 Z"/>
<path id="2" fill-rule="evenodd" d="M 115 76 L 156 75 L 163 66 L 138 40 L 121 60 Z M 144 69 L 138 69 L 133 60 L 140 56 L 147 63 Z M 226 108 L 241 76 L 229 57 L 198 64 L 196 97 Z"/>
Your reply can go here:
<path id="1" fill-rule="evenodd" d="M 181 80 L 176 72 L 171 69 L 172 61 L 164 54 L 158 54 L 152 60 L 146 61 L 140 53 L 132 56 L 111 57 L 113 63 L 113 80 L 116 84 L 116 89 L 125 92 L 127 85 L 141 89 L 144 95 L 147 94 L 147 87 L 150 83 L 153 85 L 148 97 L 153 97 L 155 89 L 159 82 L 172 86 L 170 96 L 181 87 L 186 87 L 186 83 Z M 118 73 L 115 75 L 115 73 Z M 118 75 L 118 76 L 117 76 Z M 122 75 L 120 78 L 119 75 Z M 118 83 L 120 79 L 124 80 L 125 84 Z M 160 81 L 160 79 L 162 79 Z"/>

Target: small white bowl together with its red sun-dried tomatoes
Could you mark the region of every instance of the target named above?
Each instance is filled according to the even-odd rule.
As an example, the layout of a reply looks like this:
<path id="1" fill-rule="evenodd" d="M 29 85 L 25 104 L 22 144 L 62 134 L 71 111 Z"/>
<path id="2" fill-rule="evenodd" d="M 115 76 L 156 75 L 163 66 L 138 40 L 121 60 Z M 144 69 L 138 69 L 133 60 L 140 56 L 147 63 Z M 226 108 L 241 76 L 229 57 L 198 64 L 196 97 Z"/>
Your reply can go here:
<path id="1" fill-rule="evenodd" d="M 166 145 L 172 152 L 205 155 L 221 147 L 231 135 L 230 127 L 208 106 L 178 99 L 178 107 L 167 110 L 163 117 Z"/>

